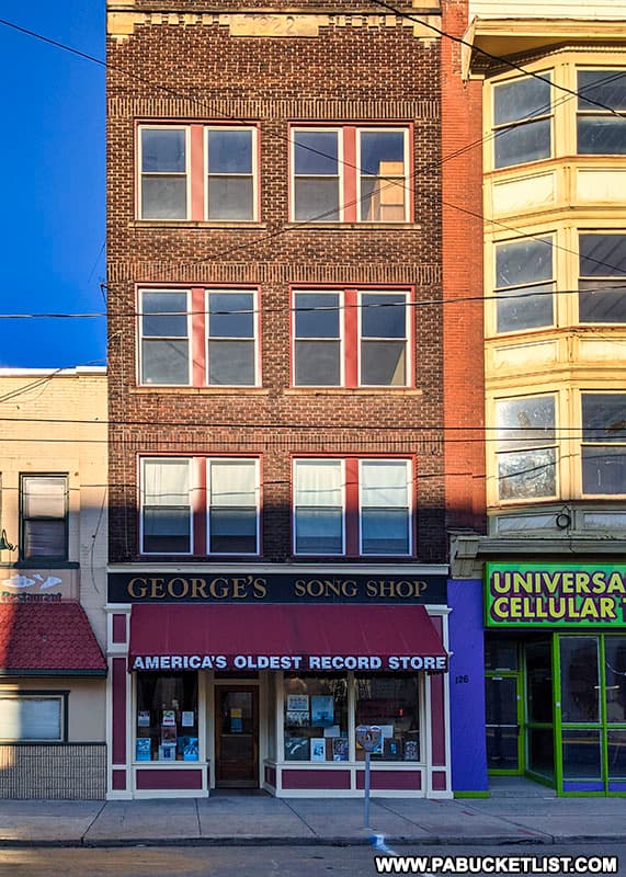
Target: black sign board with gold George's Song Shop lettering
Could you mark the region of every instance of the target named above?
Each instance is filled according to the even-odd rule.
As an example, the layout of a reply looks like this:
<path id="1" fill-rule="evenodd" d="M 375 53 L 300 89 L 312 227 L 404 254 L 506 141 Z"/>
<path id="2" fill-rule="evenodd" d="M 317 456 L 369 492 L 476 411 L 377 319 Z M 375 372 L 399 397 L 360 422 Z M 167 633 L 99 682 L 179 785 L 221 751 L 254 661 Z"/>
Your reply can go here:
<path id="1" fill-rule="evenodd" d="M 109 574 L 110 603 L 421 603 L 445 604 L 447 579 L 329 573 Z"/>

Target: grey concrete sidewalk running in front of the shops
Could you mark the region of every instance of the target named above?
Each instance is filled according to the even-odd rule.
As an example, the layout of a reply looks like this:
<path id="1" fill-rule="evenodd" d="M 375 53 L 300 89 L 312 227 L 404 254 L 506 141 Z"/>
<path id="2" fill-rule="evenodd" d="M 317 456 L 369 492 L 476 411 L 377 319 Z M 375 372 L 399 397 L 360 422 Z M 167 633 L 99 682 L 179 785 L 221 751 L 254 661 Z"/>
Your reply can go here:
<path id="1" fill-rule="evenodd" d="M 556 798 L 540 786 L 494 790 L 488 799 L 363 800 L 219 793 L 147 801 L 0 802 L 0 847 L 365 844 L 623 843 L 626 798 Z M 523 797 L 522 797 L 523 795 Z"/>

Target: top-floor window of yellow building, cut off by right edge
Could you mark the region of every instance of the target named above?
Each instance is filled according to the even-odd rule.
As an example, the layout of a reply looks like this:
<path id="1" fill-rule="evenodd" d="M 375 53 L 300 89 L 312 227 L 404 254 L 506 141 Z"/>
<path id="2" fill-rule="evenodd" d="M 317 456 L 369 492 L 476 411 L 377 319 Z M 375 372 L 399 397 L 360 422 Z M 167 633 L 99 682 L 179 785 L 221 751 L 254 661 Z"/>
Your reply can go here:
<path id="1" fill-rule="evenodd" d="M 579 70 L 578 93 L 579 155 L 626 155 L 624 117 L 611 112 L 626 112 L 626 70 Z"/>

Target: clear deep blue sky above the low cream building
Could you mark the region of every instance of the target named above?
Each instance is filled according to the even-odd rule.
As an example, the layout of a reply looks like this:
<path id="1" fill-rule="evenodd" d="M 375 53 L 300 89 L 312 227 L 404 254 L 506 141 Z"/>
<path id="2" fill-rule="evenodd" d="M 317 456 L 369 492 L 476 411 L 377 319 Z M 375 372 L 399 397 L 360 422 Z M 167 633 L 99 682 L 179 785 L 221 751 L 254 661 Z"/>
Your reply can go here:
<path id="1" fill-rule="evenodd" d="M 0 18 L 104 58 L 104 0 L 2 0 Z M 0 25 L 0 314 L 103 311 L 104 68 Z M 0 365 L 104 364 L 104 318 L 0 319 Z"/>

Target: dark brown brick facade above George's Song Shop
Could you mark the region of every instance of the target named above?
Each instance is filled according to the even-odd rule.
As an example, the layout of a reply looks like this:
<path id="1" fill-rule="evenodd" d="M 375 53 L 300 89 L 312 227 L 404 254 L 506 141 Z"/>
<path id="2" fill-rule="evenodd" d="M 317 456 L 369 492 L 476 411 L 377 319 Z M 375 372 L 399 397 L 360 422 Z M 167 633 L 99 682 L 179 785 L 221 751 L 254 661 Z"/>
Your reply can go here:
<path id="1" fill-rule="evenodd" d="M 289 455 L 314 451 L 416 454 L 419 558 L 443 561 L 441 306 L 414 308 L 417 385 L 409 392 L 289 391 L 287 309 L 289 285 L 298 283 L 410 285 L 418 301 L 441 298 L 439 41 L 417 41 L 400 20 L 284 39 L 231 37 L 217 25 L 139 25 L 129 39 L 110 41 L 109 61 L 111 559 L 137 556 L 137 453 L 164 451 L 261 453 L 264 559 L 285 559 Z M 225 116 L 260 122 L 263 227 L 137 227 L 136 121 Z M 416 224 L 286 230 L 287 123 L 377 119 L 414 126 Z M 132 315 L 135 285 L 147 282 L 258 285 L 263 388 L 137 390 Z"/>

